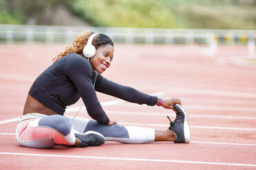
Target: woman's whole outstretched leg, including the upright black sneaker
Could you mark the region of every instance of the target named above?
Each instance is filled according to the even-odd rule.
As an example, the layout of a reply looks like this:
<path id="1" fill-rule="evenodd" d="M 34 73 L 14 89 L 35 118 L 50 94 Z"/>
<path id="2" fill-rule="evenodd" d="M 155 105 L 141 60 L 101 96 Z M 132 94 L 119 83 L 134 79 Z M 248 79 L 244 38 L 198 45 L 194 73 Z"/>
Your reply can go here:
<path id="1" fill-rule="evenodd" d="M 151 143 L 154 141 L 174 141 L 175 143 L 189 143 L 190 132 L 187 114 L 180 105 L 174 105 L 177 114 L 175 121 L 171 121 L 169 130 L 154 130 L 147 127 L 122 126 L 119 124 L 103 125 L 94 120 L 76 117 L 70 118 L 72 127 L 80 133 L 95 131 L 105 136 L 105 141 L 120 143 Z"/>

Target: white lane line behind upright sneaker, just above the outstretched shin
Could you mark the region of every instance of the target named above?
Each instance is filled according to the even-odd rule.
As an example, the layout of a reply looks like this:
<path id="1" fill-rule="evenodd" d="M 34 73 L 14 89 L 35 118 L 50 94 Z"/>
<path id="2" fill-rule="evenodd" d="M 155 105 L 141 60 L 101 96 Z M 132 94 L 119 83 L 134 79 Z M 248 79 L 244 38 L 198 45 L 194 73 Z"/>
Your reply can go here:
<path id="1" fill-rule="evenodd" d="M 122 125 L 138 125 L 138 126 L 153 126 L 153 127 L 168 127 L 168 125 L 164 124 L 147 124 L 147 123 L 125 123 L 118 122 Z M 246 128 L 246 127 L 215 127 L 215 126 L 200 126 L 200 125 L 189 125 L 191 128 L 196 129 L 213 129 L 213 130 L 248 130 L 248 131 L 256 131 L 256 128 Z"/>

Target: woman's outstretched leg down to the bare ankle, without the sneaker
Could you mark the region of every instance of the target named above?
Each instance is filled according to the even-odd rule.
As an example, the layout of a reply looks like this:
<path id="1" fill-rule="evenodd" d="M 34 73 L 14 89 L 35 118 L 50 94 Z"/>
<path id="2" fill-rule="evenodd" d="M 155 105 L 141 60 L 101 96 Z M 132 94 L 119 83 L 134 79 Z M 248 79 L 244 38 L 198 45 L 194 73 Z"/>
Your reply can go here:
<path id="1" fill-rule="evenodd" d="M 70 122 L 74 131 L 83 133 L 95 131 L 105 136 L 105 141 L 120 143 L 152 143 L 154 141 L 175 141 L 172 130 L 155 130 L 153 128 L 138 126 L 122 126 L 119 124 L 103 125 L 94 120 L 81 117 L 72 119 Z"/>

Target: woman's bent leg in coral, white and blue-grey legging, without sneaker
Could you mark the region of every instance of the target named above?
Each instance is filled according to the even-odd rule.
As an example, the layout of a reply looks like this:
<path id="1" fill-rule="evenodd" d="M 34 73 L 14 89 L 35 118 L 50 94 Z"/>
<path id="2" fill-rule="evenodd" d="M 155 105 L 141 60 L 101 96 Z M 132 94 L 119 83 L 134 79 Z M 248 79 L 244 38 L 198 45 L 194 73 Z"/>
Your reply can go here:
<path id="1" fill-rule="evenodd" d="M 25 119 L 17 126 L 17 141 L 24 147 L 50 148 L 55 144 L 74 145 L 72 125 L 61 115 Z"/>

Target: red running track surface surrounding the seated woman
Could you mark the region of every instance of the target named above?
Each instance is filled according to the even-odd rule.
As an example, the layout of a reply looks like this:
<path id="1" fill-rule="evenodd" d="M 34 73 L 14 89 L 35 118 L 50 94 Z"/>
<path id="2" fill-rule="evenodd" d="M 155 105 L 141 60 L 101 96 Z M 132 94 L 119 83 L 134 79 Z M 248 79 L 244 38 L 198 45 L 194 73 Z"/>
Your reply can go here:
<path id="1" fill-rule="evenodd" d="M 246 55 L 246 47 L 222 47 L 211 57 L 206 47 L 116 45 L 112 65 L 103 75 L 145 93 L 182 99 L 189 113 L 189 144 L 19 146 L 14 132 L 28 90 L 64 48 L 0 45 L 1 169 L 256 169 L 256 71 L 220 62 Z M 157 106 L 117 104 L 116 98 L 100 93 L 98 98 L 110 119 L 123 125 L 164 130 L 166 115 L 175 119 L 173 111 Z M 81 104 L 71 106 L 66 115 L 74 115 Z M 85 110 L 78 116 L 88 117 Z"/>

